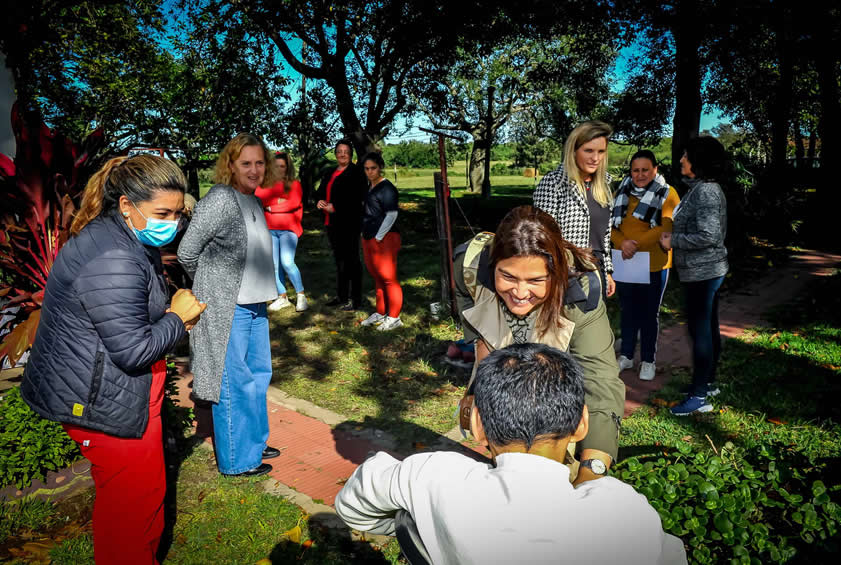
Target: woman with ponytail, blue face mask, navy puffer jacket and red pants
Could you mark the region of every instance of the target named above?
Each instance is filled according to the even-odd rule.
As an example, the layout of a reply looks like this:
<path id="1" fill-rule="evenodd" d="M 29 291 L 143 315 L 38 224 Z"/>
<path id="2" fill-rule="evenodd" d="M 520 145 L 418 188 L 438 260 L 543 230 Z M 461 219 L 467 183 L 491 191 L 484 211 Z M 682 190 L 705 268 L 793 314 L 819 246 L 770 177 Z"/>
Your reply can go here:
<path id="1" fill-rule="evenodd" d="M 91 463 L 97 565 L 157 563 L 166 492 L 164 355 L 204 311 L 170 301 L 159 247 L 175 237 L 186 181 L 167 159 L 111 159 L 88 182 L 47 280 L 21 383 Z"/>

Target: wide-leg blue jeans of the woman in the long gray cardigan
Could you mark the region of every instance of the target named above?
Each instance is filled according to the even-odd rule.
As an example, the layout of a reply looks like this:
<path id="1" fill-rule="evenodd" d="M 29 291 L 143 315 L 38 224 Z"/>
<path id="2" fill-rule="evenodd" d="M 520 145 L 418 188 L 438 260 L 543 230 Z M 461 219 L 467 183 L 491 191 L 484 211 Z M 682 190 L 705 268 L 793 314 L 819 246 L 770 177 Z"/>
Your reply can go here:
<path id="1" fill-rule="evenodd" d="M 236 475 L 263 461 L 269 439 L 266 391 L 272 379 L 266 305 L 237 304 L 219 402 L 213 405 L 213 439 L 219 472 Z"/>

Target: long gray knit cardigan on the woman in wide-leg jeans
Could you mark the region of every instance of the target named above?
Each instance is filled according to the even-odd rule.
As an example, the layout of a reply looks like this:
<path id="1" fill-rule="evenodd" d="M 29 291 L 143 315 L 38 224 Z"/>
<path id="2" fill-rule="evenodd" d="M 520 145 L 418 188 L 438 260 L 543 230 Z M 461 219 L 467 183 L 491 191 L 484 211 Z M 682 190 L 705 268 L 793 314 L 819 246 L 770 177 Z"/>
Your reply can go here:
<path id="1" fill-rule="evenodd" d="M 178 246 L 178 260 L 193 277 L 193 293 L 207 303 L 190 331 L 193 393 L 202 400 L 219 402 L 247 248 L 248 233 L 235 189 L 217 184 L 196 204 Z"/>

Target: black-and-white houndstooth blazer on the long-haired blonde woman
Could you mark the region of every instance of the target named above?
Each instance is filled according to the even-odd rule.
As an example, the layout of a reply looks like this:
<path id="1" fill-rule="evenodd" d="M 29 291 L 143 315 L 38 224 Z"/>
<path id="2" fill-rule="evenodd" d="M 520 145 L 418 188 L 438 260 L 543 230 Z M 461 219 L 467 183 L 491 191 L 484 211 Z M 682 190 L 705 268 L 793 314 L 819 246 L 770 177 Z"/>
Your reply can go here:
<path id="1" fill-rule="evenodd" d="M 606 181 L 610 183 L 608 174 Z M 534 205 L 540 208 L 558 222 L 564 239 L 576 247 L 590 248 L 590 211 L 587 201 L 581 191 L 575 186 L 561 165 L 554 171 L 547 173 L 537 188 L 534 189 Z M 604 268 L 608 273 L 613 272 L 613 261 L 610 259 L 610 222 L 604 230 Z"/>

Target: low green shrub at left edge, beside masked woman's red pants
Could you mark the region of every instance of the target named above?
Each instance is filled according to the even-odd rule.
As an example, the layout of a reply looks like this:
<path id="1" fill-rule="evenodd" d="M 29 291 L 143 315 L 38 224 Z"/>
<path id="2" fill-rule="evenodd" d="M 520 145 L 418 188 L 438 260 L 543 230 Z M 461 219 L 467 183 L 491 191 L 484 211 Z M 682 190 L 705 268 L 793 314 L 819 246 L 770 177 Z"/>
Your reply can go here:
<path id="1" fill-rule="evenodd" d="M 13 388 L 0 401 L 0 487 L 28 486 L 47 471 L 67 467 L 80 457 L 61 424 L 45 420 Z"/>

